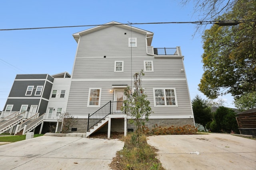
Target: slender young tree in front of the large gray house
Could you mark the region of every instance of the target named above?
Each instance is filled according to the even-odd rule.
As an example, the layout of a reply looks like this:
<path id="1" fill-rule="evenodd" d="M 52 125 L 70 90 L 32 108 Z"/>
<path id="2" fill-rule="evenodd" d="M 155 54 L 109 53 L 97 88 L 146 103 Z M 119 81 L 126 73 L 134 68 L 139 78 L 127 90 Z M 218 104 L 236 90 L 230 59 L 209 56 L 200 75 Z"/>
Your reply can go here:
<path id="1" fill-rule="evenodd" d="M 142 87 L 142 76 L 144 76 L 143 70 L 133 75 L 134 88 L 128 86 L 124 90 L 124 106 L 122 110 L 125 111 L 132 119 L 129 119 L 129 123 L 136 127 L 136 133 L 142 133 L 142 125 L 145 125 L 145 121 L 148 121 L 148 117 L 151 113 L 154 113 L 150 107 L 150 102 L 147 100 L 147 95 Z"/>

